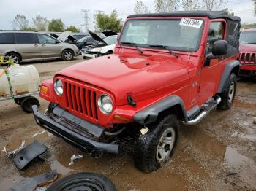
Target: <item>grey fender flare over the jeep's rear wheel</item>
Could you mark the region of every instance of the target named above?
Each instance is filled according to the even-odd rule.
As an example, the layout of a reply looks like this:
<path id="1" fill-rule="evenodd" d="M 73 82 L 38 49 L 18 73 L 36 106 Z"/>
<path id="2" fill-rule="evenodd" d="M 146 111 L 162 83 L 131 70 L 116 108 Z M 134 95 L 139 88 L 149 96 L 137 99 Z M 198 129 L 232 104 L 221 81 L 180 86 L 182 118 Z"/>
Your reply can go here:
<path id="1" fill-rule="evenodd" d="M 223 90 L 225 88 L 225 84 L 227 82 L 227 79 L 231 74 L 231 71 L 237 66 L 239 67 L 239 70 L 240 70 L 241 64 L 237 60 L 230 61 L 229 63 L 226 64 L 225 69 L 224 69 L 223 74 L 222 74 L 222 79 L 219 82 L 219 87 L 218 87 L 218 90 L 217 90 L 218 93 L 223 92 Z M 238 71 L 238 73 L 239 73 L 239 71 Z"/>

